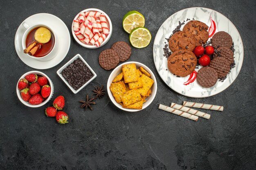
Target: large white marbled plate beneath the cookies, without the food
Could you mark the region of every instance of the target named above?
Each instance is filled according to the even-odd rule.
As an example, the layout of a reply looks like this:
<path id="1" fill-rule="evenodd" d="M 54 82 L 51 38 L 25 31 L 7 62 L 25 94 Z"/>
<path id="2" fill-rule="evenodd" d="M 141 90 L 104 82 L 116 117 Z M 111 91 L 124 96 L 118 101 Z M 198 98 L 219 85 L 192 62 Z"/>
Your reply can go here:
<path id="1" fill-rule="evenodd" d="M 218 81 L 216 85 L 214 85 L 213 87 L 210 87 L 210 88 L 201 87 L 200 85 L 198 85 L 196 80 L 193 83 L 190 83 L 189 85 L 183 85 L 183 83 L 188 80 L 189 76 L 176 77 L 175 75 L 173 75 L 171 72 L 168 71 L 167 59 L 166 57 L 163 56 L 164 54 L 163 48 L 165 45 L 164 42 L 166 42 L 165 38 L 168 38 L 172 34 L 176 26 L 179 25 L 179 21 L 183 22 L 184 20 L 186 21 L 187 18 L 189 18 L 190 20 L 194 18 L 195 20 L 204 22 L 205 24 L 207 24 L 207 26 L 210 27 L 211 26 L 210 17 L 212 17 L 212 19 L 216 23 L 217 28 L 215 33 L 217 33 L 218 31 L 225 31 L 229 33 L 229 35 L 231 35 L 234 41 L 234 48 L 235 48 L 234 60 L 236 63 L 235 65 L 236 67 L 231 69 L 231 72 L 227 75 L 227 78 L 223 82 Z M 187 22 L 185 22 L 185 24 Z M 182 25 L 180 30 L 182 30 L 183 27 L 184 25 Z M 193 8 L 183 9 L 171 15 L 162 24 L 162 26 L 160 26 L 154 41 L 153 56 L 154 56 L 155 67 L 157 68 L 158 74 L 161 76 L 163 81 L 169 87 L 171 87 L 171 89 L 173 89 L 175 92 L 180 93 L 184 96 L 202 98 L 202 97 L 209 97 L 209 96 L 218 94 L 233 83 L 233 81 L 238 76 L 238 73 L 240 72 L 240 69 L 243 64 L 244 50 L 243 50 L 242 39 L 236 27 L 231 21 L 229 21 L 229 19 L 227 19 L 227 17 L 225 17 L 221 13 L 218 13 L 217 11 L 214 11 L 212 9 L 193 7 Z M 198 71 L 198 70 L 199 69 L 195 69 L 195 71 Z"/>

